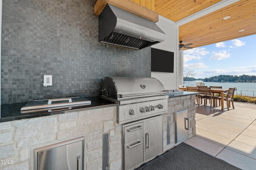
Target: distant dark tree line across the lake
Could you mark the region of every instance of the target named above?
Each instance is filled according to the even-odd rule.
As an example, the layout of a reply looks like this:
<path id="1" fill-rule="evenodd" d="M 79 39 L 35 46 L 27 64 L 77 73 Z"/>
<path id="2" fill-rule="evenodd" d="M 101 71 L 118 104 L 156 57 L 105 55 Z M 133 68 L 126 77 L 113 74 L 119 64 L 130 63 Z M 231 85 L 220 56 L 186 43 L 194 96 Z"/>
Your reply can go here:
<path id="1" fill-rule="evenodd" d="M 256 82 L 255 75 L 218 75 L 205 78 L 206 82 Z"/>

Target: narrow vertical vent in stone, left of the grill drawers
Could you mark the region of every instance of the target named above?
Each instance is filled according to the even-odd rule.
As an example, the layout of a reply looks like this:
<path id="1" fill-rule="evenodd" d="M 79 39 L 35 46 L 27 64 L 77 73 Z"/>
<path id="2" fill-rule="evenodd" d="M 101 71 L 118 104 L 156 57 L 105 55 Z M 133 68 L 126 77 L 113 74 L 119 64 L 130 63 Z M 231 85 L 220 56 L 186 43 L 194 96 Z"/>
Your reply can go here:
<path id="1" fill-rule="evenodd" d="M 102 170 L 108 170 L 108 152 L 109 152 L 109 145 L 108 145 L 108 133 L 103 134 L 102 136 Z"/>

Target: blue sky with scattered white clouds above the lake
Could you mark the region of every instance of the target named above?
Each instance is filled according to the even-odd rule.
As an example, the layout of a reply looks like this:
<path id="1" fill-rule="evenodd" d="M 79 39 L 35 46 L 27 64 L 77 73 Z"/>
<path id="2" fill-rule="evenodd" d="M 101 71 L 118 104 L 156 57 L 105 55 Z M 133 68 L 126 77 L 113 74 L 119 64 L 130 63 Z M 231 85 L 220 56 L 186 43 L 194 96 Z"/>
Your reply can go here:
<path id="1" fill-rule="evenodd" d="M 256 75 L 256 34 L 183 51 L 183 69 L 194 78 Z"/>

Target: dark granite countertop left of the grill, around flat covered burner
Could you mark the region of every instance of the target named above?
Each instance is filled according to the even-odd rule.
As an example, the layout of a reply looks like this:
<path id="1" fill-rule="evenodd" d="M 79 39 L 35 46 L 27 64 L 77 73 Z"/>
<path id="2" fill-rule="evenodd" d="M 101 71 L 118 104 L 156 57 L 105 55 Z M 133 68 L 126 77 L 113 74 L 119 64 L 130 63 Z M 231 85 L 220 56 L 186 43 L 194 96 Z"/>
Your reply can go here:
<path id="1" fill-rule="evenodd" d="M 35 118 L 35 117 L 42 117 L 42 116 L 48 116 L 48 115 L 55 115 L 55 114 L 62 114 L 72 111 L 82 111 L 87 109 L 96 109 L 98 107 L 110 107 L 117 105 L 116 103 L 112 103 L 110 101 L 107 101 L 105 99 L 102 99 L 101 97 L 86 97 L 86 99 L 90 100 L 92 103 L 91 105 L 84 105 L 84 106 L 78 106 L 78 107 L 69 107 L 67 109 L 58 110 L 55 111 L 52 109 L 50 112 L 48 110 L 46 111 L 35 111 L 32 113 L 21 113 L 20 109 L 26 105 L 26 103 L 14 103 L 14 104 L 4 104 L 1 106 L 1 113 L 0 113 L 0 122 L 7 122 L 7 121 L 15 121 L 20 119 L 29 119 L 29 118 Z"/>

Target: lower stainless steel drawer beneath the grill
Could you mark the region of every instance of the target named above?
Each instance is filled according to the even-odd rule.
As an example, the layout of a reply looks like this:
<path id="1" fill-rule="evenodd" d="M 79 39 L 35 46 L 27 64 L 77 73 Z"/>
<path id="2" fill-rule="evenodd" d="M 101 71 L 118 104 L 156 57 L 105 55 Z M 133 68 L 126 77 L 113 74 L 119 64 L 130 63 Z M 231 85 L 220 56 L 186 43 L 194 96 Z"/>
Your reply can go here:
<path id="1" fill-rule="evenodd" d="M 143 162 L 143 137 L 124 144 L 124 169 L 129 170 Z"/>

